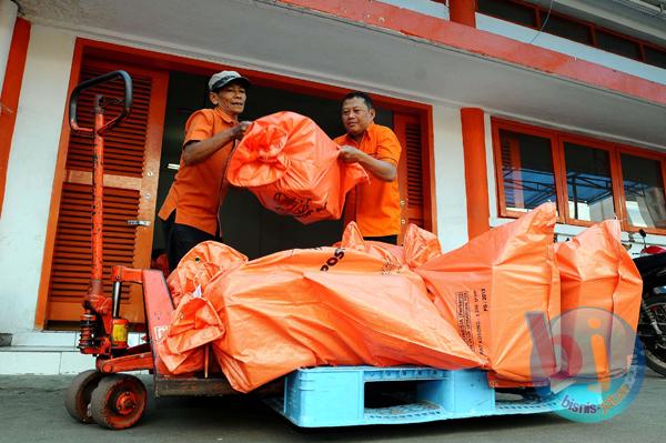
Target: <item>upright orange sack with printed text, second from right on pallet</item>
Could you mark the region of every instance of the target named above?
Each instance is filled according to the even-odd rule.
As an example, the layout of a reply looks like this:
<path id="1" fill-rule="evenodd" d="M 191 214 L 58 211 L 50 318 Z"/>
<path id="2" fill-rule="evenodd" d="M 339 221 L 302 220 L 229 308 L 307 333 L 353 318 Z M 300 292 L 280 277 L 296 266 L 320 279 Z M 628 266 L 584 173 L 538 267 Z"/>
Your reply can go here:
<path id="1" fill-rule="evenodd" d="M 555 205 L 546 203 L 415 269 L 442 316 L 487 359 L 494 385 L 531 385 L 558 371 L 554 226 Z"/>

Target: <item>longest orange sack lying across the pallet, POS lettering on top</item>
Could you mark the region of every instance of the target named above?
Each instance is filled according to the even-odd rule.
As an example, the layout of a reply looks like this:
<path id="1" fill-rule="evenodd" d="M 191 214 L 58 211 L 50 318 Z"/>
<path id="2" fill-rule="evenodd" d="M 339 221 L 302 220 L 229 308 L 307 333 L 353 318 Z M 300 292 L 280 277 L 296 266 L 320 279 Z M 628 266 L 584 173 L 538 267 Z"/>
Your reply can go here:
<path id="1" fill-rule="evenodd" d="M 178 353 L 190 352 L 193 343 L 184 344 L 179 335 L 212 338 L 223 331 L 196 346 L 212 342 L 219 365 L 241 392 L 303 366 L 462 369 L 485 363 L 440 316 L 422 279 L 404 264 L 387 266 L 387 260 L 364 251 L 316 248 L 250 261 L 214 276 L 201 298 L 181 302 L 183 312 L 191 312 L 189 303 L 206 311 L 214 306 L 220 328 L 211 330 L 202 322 L 204 333 L 170 331 L 171 346 L 161 345 L 159 352 L 169 370 L 180 373 Z M 206 321 L 211 318 L 205 315 Z M 174 319 L 172 330 L 185 320 Z"/>

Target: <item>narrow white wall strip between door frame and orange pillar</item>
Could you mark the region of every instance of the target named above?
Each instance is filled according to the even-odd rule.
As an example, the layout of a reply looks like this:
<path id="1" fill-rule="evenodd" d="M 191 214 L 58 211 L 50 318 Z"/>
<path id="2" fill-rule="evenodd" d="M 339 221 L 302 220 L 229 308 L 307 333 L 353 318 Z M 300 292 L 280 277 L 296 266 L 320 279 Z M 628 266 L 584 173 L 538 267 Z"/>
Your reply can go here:
<path id="1" fill-rule="evenodd" d="M 461 110 L 433 107 L 437 233 L 443 251 L 467 242 L 467 198 Z"/>

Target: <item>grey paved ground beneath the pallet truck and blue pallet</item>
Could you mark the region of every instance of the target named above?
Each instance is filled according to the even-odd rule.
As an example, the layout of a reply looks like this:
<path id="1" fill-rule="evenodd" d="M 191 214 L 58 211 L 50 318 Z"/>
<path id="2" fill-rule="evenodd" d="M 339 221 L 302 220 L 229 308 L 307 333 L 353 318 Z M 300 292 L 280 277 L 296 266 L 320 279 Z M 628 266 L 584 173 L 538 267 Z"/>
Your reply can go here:
<path id="1" fill-rule="evenodd" d="M 539 414 L 310 431 L 291 425 L 260 400 L 246 396 L 151 399 L 135 427 L 108 431 L 70 419 L 62 401 L 70 380 L 0 376 L 0 442 L 658 442 L 666 430 L 666 379 L 650 371 L 632 406 L 603 423 L 581 424 Z"/>

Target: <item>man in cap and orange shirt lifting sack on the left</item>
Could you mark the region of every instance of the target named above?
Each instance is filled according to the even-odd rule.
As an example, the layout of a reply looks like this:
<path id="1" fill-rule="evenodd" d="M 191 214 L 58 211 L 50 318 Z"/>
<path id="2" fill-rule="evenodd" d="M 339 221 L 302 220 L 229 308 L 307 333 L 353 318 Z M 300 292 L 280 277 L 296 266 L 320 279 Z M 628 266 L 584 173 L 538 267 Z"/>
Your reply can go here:
<path id="1" fill-rule="evenodd" d="M 165 223 L 169 265 L 206 240 L 221 241 L 218 214 L 226 195 L 226 163 L 249 121 L 239 122 L 250 81 L 235 71 L 222 71 L 209 81 L 214 109 L 194 112 L 185 123 L 180 168 L 159 212 Z"/>

